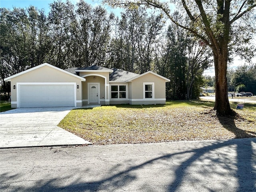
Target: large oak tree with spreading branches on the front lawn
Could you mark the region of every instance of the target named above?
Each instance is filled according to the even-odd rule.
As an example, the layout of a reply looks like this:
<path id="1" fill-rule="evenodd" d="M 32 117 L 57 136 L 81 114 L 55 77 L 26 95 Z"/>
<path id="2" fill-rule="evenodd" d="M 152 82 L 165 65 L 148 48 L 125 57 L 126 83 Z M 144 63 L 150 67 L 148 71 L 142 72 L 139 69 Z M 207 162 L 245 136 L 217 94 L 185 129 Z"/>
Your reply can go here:
<path id="1" fill-rule="evenodd" d="M 217 114 L 232 114 L 228 101 L 227 64 L 231 45 L 234 46 L 234 35 L 241 35 L 248 31 L 249 26 L 239 26 L 245 22 L 242 18 L 255 22 L 255 0 L 171 0 L 186 13 L 191 20 L 189 25 L 182 25 L 172 17 L 168 3 L 158 0 L 106 0 L 112 6 L 153 6 L 162 10 L 176 25 L 184 28 L 199 38 L 204 44 L 210 46 L 214 55 L 216 102 L 214 110 Z M 179 6 L 181 5 L 181 6 Z M 254 17 L 250 17 L 254 16 Z M 252 21 L 253 23 L 253 21 Z M 235 30 L 234 27 L 237 27 Z M 241 39 L 241 38 L 240 38 Z M 248 40 L 248 38 L 247 38 Z"/>

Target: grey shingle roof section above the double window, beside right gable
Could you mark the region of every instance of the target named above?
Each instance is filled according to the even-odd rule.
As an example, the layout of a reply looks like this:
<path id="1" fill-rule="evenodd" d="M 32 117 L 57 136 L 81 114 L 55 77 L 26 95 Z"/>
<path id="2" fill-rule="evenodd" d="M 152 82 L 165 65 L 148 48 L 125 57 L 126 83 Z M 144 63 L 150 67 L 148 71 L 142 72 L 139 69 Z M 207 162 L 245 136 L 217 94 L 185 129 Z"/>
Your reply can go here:
<path id="1" fill-rule="evenodd" d="M 124 71 L 121 69 L 112 68 L 114 72 L 112 72 L 109 76 L 110 81 L 127 81 L 131 78 L 138 76 L 139 74 Z"/>

